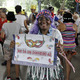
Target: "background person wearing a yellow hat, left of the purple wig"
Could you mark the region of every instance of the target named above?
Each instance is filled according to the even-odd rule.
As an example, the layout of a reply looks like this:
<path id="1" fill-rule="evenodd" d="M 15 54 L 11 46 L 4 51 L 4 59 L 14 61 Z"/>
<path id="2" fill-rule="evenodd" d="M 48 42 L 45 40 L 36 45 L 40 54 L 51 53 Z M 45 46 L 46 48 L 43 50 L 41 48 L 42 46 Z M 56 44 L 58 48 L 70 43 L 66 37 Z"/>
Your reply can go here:
<path id="1" fill-rule="evenodd" d="M 29 16 L 29 24 L 30 23 L 34 23 L 35 19 L 36 19 L 36 15 L 37 15 L 37 12 L 36 12 L 36 5 L 31 5 L 31 14 Z"/>

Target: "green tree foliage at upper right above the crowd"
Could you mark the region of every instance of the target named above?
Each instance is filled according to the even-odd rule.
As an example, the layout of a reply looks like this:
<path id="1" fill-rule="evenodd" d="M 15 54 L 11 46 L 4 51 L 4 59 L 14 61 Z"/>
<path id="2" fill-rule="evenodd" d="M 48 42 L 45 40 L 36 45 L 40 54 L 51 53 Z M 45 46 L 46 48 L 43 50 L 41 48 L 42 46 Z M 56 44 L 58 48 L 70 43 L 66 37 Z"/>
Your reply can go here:
<path id="1" fill-rule="evenodd" d="M 68 8 L 71 10 L 71 12 L 74 12 L 76 10 L 75 0 L 41 0 L 41 3 L 44 5 L 50 4 L 54 7 L 57 7 L 58 9 Z"/>

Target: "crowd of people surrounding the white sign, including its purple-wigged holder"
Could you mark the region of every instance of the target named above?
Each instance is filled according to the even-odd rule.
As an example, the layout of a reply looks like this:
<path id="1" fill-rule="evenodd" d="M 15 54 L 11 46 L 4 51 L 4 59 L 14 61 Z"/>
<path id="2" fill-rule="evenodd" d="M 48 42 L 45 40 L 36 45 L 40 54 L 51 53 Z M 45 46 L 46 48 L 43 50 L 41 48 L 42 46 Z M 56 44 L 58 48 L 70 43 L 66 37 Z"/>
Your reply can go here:
<path id="1" fill-rule="evenodd" d="M 76 55 L 75 49 L 79 45 L 78 35 L 80 34 L 80 18 L 78 13 L 74 12 L 72 14 L 69 10 L 58 10 L 57 14 L 54 14 L 54 7 L 52 6 L 36 12 L 35 5 L 31 6 L 29 17 L 20 5 L 15 6 L 15 12 L 16 15 L 12 11 L 7 12 L 6 8 L 0 8 L 0 44 L 2 45 L 5 60 L 1 65 L 6 65 L 7 76 L 5 80 L 11 80 L 10 69 L 15 44 L 13 34 L 44 34 L 53 36 L 55 38 L 55 54 L 57 54 L 56 66 L 58 64 L 55 70 L 58 72 L 53 77 L 50 77 L 50 74 L 48 74 L 49 79 L 45 75 L 43 80 L 70 80 L 71 67 L 65 60 L 66 77 L 64 79 L 63 57 L 58 53 L 61 52 L 59 47 L 61 46 L 70 62 L 72 56 Z M 63 68 L 60 66 L 63 66 Z M 22 80 L 19 75 L 19 68 L 20 66 L 15 64 L 16 80 Z M 26 80 L 32 80 L 31 75 Z"/>

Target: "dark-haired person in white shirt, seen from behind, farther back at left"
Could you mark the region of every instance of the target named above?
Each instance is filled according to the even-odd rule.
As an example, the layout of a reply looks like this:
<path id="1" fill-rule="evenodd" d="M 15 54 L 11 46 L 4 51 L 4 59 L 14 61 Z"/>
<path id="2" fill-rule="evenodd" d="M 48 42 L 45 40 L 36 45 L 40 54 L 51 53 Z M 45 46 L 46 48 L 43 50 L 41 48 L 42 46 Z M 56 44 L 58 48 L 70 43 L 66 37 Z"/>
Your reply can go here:
<path id="1" fill-rule="evenodd" d="M 21 14 L 21 9 L 22 7 L 20 5 L 15 6 L 15 11 L 16 11 L 16 22 L 19 23 L 22 26 L 22 31 L 23 33 L 29 32 L 28 26 L 27 26 L 27 19 L 24 15 Z"/>

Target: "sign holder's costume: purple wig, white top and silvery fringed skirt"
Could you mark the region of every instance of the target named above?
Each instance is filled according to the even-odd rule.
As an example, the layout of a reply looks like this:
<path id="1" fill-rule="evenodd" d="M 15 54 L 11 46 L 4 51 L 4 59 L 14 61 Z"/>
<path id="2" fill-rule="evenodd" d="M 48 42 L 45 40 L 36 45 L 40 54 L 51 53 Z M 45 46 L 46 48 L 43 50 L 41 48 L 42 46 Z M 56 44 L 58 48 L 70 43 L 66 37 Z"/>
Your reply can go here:
<path id="1" fill-rule="evenodd" d="M 51 13 L 48 10 L 43 10 L 37 15 L 37 19 L 34 23 L 34 26 L 32 27 L 30 34 L 39 34 L 42 35 L 42 33 L 39 30 L 39 25 L 38 25 L 38 18 L 44 15 L 45 17 L 48 17 L 51 20 L 51 23 L 53 21 L 51 17 Z M 58 29 L 51 27 L 49 28 L 49 33 L 47 33 L 47 36 L 52 36 L 61 43 L 63 43 L 61 33 L 59 32 Z M 57 51 L 55 49 L 55 66 L 53 68 L 42 68 L 42 67 L 28 67 L 28 77 L 27 79 L 33 79 L 33 80 L 64 80 L 63 77 L 63 71 L 62 71 L 62 66 L 60 64 L 60 59 L 57 57 Z M 38 72 L 38 74 L 37 74 Z"/>

